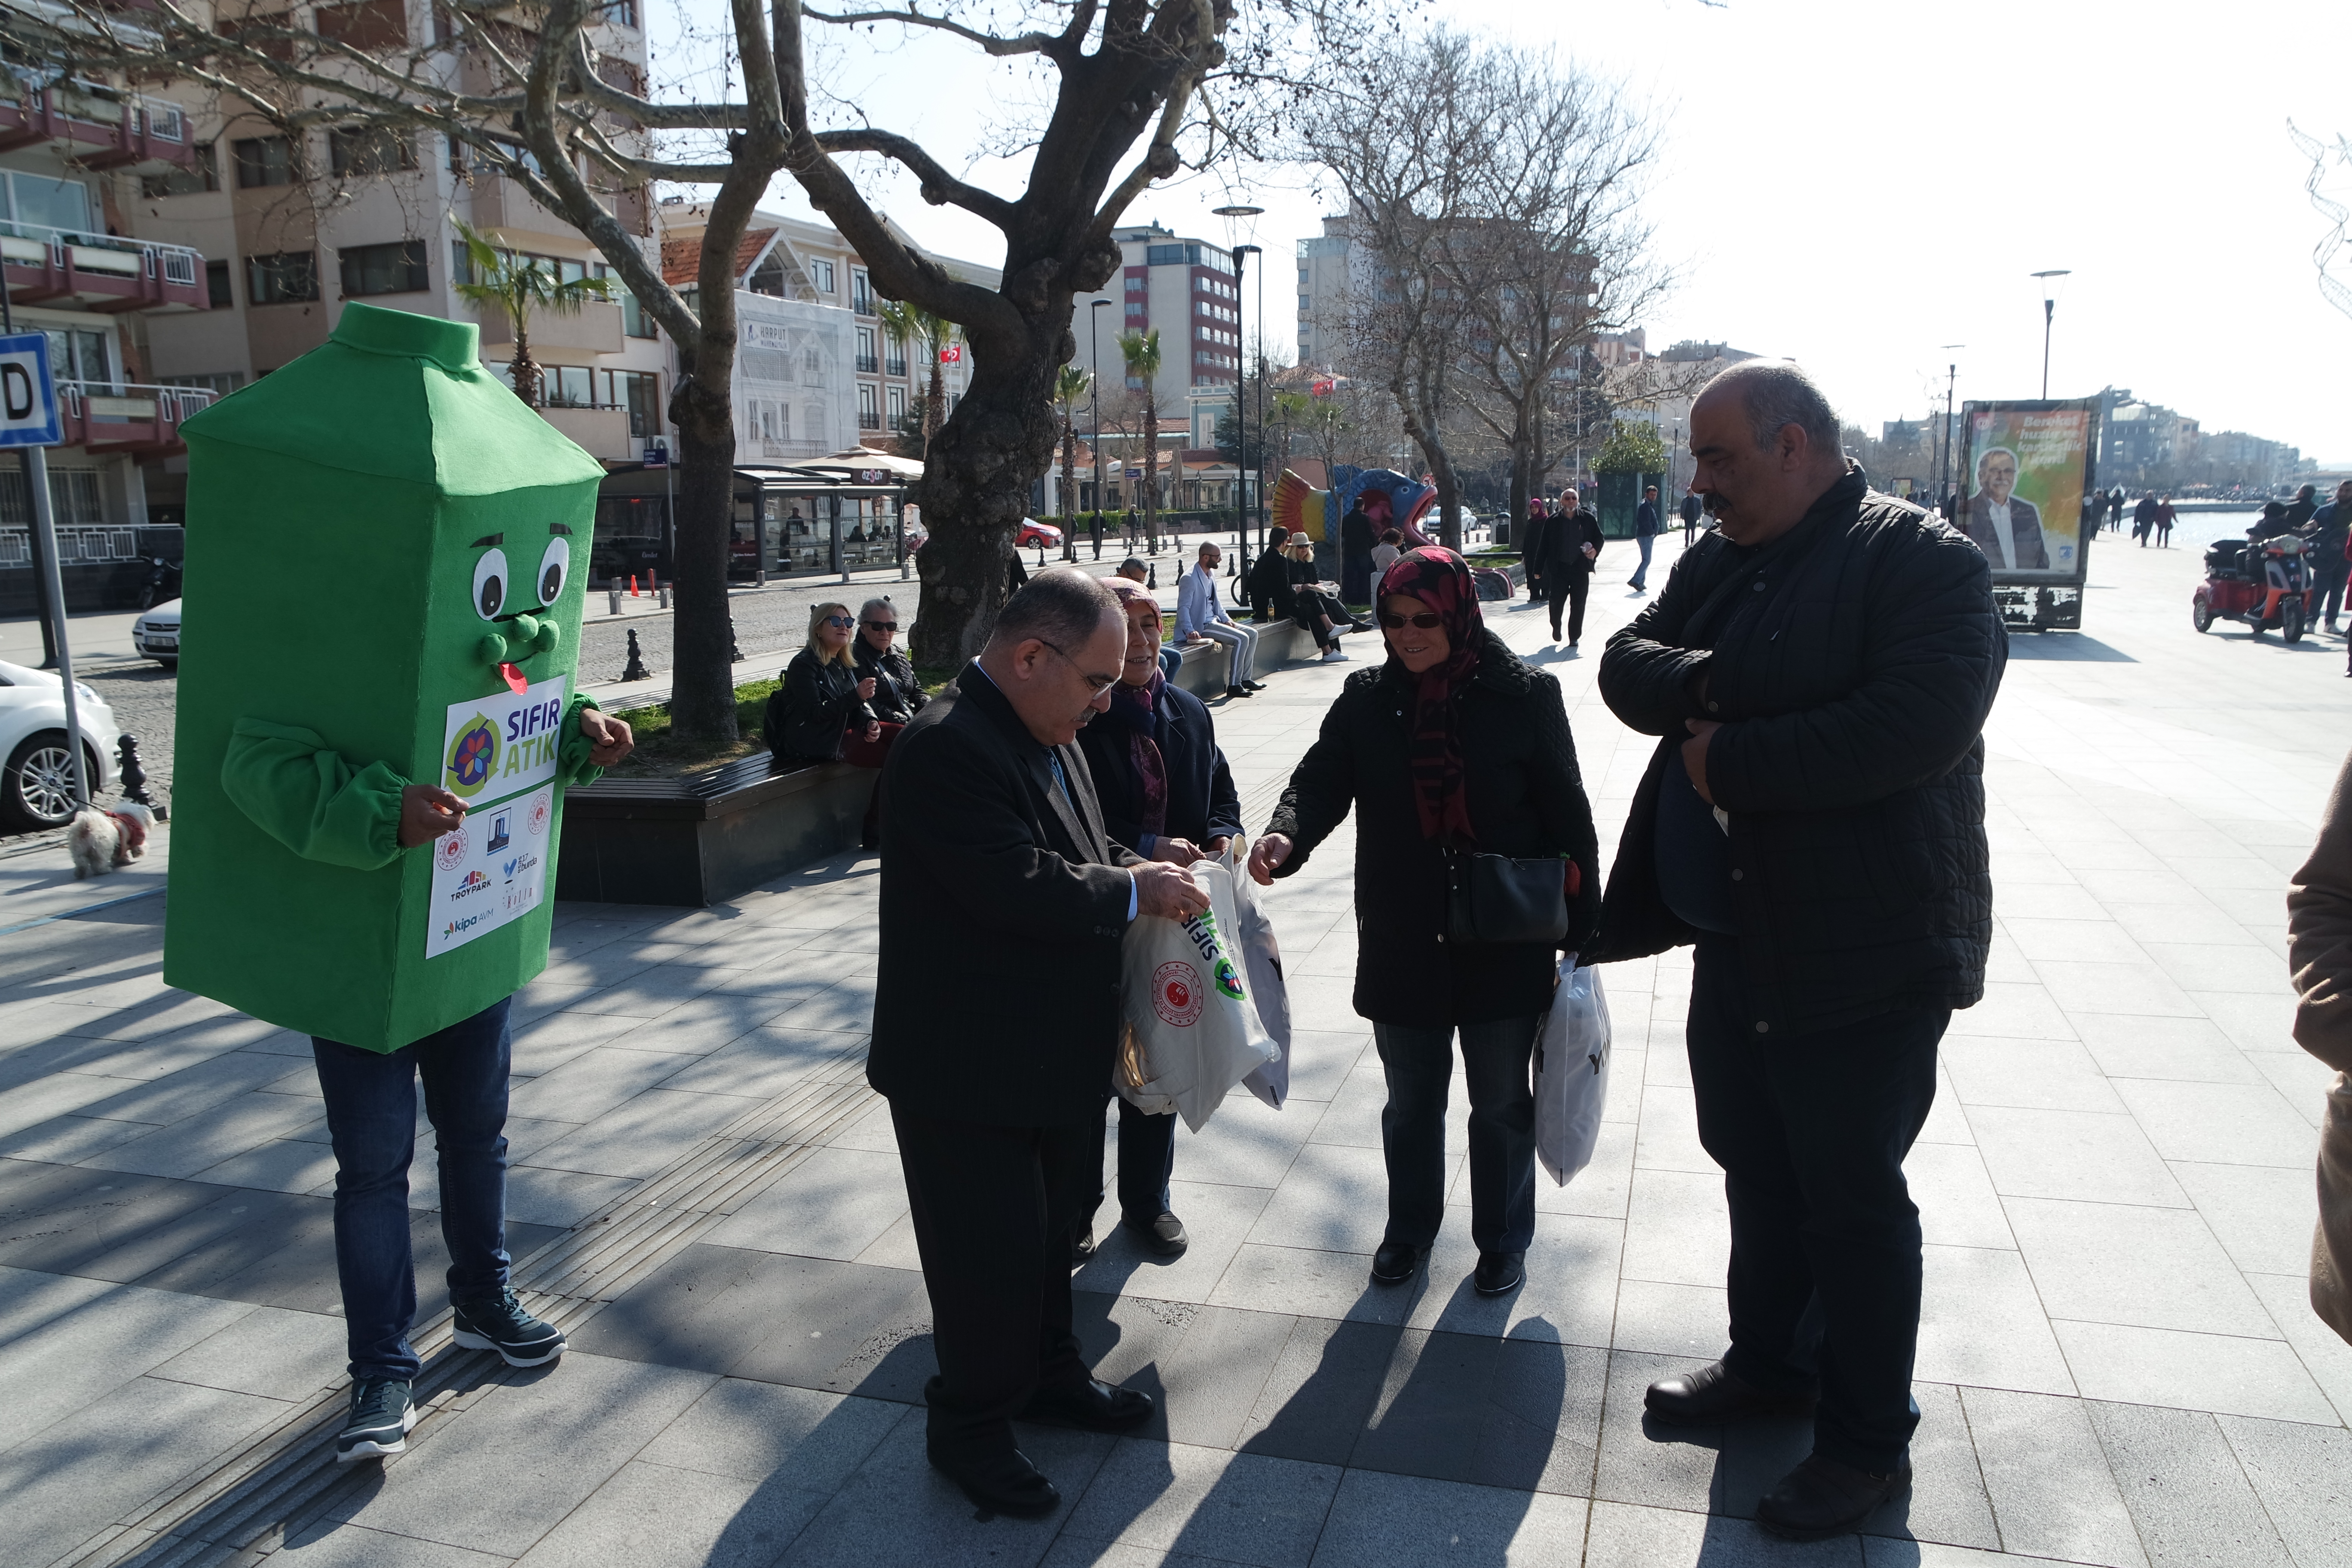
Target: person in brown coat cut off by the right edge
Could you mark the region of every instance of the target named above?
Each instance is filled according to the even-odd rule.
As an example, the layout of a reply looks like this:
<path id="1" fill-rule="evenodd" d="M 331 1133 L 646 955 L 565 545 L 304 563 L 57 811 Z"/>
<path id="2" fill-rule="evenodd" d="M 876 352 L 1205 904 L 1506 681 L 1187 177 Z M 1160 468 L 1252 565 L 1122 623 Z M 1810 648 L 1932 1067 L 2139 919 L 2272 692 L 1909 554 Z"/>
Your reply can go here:
<path id="1" fill-rule="evenodd" d="M 2319 1131 L 2312 1312 L 2352 1342 L 2352 759 L 2336 776 L 2310 860 L 2286 886 L 2286 969 L 2296 1044 L 2336 1070 Z"/>

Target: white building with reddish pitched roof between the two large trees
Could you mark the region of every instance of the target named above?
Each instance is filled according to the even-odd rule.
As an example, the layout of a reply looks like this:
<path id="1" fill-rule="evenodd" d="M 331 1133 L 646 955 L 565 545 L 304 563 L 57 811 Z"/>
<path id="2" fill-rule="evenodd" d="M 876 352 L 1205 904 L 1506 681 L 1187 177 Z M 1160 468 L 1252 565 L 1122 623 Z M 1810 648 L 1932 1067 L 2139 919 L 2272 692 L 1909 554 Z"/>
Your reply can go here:
<path id="1" fill-rule="evenodd" d="M 663 277 L 673 289 L 694 289 L 708 209 L 670 200 L 659 207 L 659 221 Z M 988 289 L 1002 280 L 1000 268 L 941 256 L 889 219 L 884 226 L 953 277 Z M 891 444 L 929 390 L 931 367 L 924 343 L 891 339 L 880 306 L 866 261 L 837 228 L 779 212 L 753 214 L 736 249 L 736 313 L 743 322 L 734 386 L 736 449 L 746 461 L 814 458 L 858 444 Z M 837 355 L 828 346 L 835 331 L 828 322 L 835 320 L 847 334 Z M 950 343 L 946 353 L 938 369 L 953 411 L 971 386 L 971 362 L 962 343 Z M 833 360 L 840 362 L 840 383 L 823 369 Z M 840 400 L 837 409 L 821 390 Z"/>

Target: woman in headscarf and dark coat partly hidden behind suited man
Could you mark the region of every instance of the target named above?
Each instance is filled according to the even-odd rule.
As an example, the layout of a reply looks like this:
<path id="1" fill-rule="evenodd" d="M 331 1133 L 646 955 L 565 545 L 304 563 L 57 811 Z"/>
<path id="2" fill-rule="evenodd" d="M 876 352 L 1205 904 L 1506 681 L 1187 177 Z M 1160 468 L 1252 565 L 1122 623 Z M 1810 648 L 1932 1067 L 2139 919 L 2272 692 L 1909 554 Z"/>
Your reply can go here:
<path id="1" fill-rule="evenodd" d="M 1134 583 L 1108 588 L 1127 616 L 1127 663 L 1110 708 L 1077 731 L 1103 832 L 1148 860 L 1214 860 L 1242 832 L 1242 797 L 1216 745 L 1216 722 L 1197 696 L 1162 675 L 1152 597 Z M 1094 1201 L 1077 1220 L 1073 1255 L 1094 1251 L 1094 1215 L 1103 1204 L 1101 1140 L 1094 1147 Z M 1120 1227 L 1152 1258 L 1183 1258 L 1190 1246 L 1169 1194 L 1174 1173 L 1176 1112 L 1150 1114 L 1120 1100 Z"/>

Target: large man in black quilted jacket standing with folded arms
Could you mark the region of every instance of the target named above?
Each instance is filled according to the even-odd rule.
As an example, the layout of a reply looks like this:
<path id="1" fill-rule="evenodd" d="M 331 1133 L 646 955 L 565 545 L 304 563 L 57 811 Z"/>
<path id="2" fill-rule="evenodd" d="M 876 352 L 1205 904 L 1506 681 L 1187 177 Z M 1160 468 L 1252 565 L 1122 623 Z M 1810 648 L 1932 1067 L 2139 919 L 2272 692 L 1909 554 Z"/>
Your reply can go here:
<path id="1" fill-rule="evenodd" d="M 1870 491 L 1795 364 L 1719 374 L 1691 454 L 1719 529 L 1602 656 L 1602 698 L 1658 750 L 1588 957 L 1696 943 L 1686 1044 L 1731 1211 L 1731 1347 L 1653 1382 L 1649 1415 L 1811 1408 L 1813 1453 L 1757 1505 L 1811 1540 L 1910 1481 L 1903 1157 L 1952 1009 L 1985 985 L 1980 731 L 2006 639 L 1985 552 Z"/>

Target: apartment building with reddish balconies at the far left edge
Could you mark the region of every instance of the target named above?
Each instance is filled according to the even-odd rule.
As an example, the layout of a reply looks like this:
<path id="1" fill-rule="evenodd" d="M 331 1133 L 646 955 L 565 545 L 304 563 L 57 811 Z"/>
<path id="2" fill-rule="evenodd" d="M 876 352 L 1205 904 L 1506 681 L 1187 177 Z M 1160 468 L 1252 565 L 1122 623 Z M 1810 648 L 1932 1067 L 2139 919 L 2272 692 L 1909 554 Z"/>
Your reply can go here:
<path id="1" fill-rule="evenodd" d="M 0 87 L 0 275 L 16 331 L 49 336 L 64 444 L 49 449 L 49 496 L 66 597 L 75 609 L 125 599 L 158 548 L 146 477 L 186 451 L 179 423 L 207 393 L 158 386 L 151 334 L 205 320 L 205 259 L 132 240 L 125 200 L 141 181 L 183 176 L 200 146 L 179 103 L 106 82 L 42 82 L 5 66 Z M 33 604 L 31 494 L 0 461 L 0 614 Z"/>

